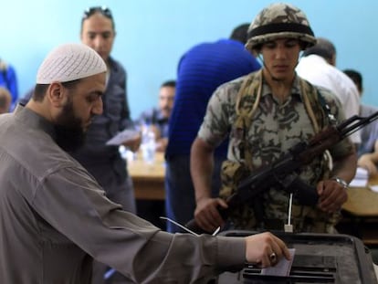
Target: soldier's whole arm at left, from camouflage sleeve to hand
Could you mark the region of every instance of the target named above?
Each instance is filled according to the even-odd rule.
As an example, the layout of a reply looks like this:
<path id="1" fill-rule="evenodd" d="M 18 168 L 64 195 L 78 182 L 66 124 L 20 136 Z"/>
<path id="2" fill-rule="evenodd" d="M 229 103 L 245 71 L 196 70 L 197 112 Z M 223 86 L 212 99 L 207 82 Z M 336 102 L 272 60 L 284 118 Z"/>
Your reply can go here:
<path id="1" fill-rule="evenodd" d="M 224 224 L 216 207 L 226 207 L 221 198 L 211 198 L 211 178 L 214 169 L 215 147 L 223 142 L 231 125 L 230 115 L 235 108 L 233 85 L 225 84 L 208 101 L 204 121 L 191 149 L 191 175 L 194 183 L 196 208 L 194 218 L 197 225 L 207 232 L 214 232 Z"/>

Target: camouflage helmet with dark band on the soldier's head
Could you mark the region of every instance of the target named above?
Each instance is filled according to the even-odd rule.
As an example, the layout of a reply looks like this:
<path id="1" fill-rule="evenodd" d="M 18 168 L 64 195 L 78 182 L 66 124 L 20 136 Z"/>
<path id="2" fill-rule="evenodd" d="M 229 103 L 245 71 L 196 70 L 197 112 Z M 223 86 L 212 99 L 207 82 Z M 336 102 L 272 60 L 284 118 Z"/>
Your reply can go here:
<path id="1" fill-rule="evenodd" d="M 316 43 L 307 16 L 289 4 L 272 4 L 263 9 L 248 28 L 246 47 L 258 49 L 261 44 L 276 38 L 298 38 L 305 47 Z"/>

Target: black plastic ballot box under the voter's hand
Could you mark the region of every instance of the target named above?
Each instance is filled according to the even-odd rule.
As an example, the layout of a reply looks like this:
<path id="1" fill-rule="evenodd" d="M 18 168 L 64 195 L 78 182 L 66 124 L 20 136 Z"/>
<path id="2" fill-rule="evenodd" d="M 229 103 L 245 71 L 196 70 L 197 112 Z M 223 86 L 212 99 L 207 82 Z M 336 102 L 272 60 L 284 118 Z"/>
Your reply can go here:
<path id="1" fill-rule="evenodd" d="M 336 283 L 378 284 L 370 251 L 359 238 L 348 235 L 292 234 L 273 232 L 295 256 L 288 277 L 261 274 L 261 269 L 251 264 L 236 273 L 225 272 L 215 280 L 217 284 L 286 284 L 286 283 Z M 225 231 L 226 237 L 246 237 L 251 231 Z"/>

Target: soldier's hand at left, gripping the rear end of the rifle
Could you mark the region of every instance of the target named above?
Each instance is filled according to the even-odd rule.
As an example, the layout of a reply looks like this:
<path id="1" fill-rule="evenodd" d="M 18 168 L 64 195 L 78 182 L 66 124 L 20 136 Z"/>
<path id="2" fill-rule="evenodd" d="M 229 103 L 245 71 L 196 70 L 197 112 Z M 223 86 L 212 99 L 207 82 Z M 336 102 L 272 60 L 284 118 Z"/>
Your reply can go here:
<path id="1" fill-rule="evenodd" d="M 217 209 L 218 206 L 228 207 L 222 198 L 203 198 L 197 201 L 194 211 L 195 222 L 208 233 L 214 232 L 218 226 L 225 224 Z"/>

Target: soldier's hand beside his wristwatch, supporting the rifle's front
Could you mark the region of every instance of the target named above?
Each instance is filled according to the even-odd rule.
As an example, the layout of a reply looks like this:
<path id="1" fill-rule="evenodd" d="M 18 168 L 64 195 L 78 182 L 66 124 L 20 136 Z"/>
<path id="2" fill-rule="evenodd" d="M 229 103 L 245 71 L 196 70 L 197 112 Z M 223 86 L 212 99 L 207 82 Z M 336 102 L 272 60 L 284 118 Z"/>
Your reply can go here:
<path id="1" fill-rule="evenodd" d="M 340 210 L 347 199 L 346 188 L 335 180 L 321 181 L 317 186 L 319 195 L 318 206 L 324 212 L 333 213 Z"/>

